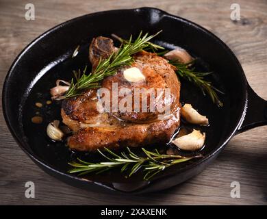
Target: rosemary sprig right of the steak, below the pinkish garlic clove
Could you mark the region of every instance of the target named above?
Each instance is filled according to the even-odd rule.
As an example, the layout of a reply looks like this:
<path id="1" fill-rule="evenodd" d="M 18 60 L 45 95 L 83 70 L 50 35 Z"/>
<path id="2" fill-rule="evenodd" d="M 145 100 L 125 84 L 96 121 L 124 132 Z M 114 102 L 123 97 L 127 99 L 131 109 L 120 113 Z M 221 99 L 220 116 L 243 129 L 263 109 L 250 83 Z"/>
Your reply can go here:
<path id="1" fill-rule="evenodd" d="M 194 70 L 194 67 L 192 67 L 193 64 L 192 62 L 187 64 L 182 64 L 177 61 L 169 61 L 169 63 L 177 68 L 176 70 L 177 75 L 194 83 L 195 86 L 199 87 L 202 90 L 204 95 L 208 94 L 214 103 L 216 103 L 219 107 L 223 107 L 223 103 L 220 101 L 218 94 L 216 93 L 219 92 L 223 94 L 223 92 L 221 92 L 217 88 L 214 88 L 214 86 L 212 86 L 212 82 L 205 80 L 205 76 L 212 74 L 212 72 L 209 73 L 196 72 Z"/>

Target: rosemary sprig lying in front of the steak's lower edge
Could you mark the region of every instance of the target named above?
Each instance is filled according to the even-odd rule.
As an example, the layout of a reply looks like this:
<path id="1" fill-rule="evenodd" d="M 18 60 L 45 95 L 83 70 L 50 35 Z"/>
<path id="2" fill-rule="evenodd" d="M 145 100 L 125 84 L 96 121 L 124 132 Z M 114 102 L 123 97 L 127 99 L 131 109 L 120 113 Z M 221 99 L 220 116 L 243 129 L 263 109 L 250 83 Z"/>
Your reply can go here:
<path id="1" fill-rule="evenodd" d="M 105 148 L 105 151 L 109 154 L 109 156 L 98 150 L 98 152 L 105 157 L 105 159 L 107 159 L 107 162 L 94 164 L 90 162 L 84 162 L 83 160 L 77 158 L 77 162 L 68 163 L 69 165 L 73 166 L 73 169 L 69 170 L 68 172 L 79 172 L 79 175 L 86 175 L 90 172 L 97 172 L 97 174 L 99 174 L 110 169 L 120 168 L 121 172 L 128 171 L 128 176 L 131 177 L 131 175 L 138 172 L 138 170 L 142 170 L 145 172 L 143 179 L 149 180 L 157 175 L 157 173 L 170 166 L 179 164 L 181 162 L 186 162 L 192 158 L 202 157 L 202 155 L 196 155 L 193 157 L 183 157 L 181 155 L 162 155 L 157 150 L 152 152 L 147 151 L 144 148 L 142 148 L 142 151 L 144 152 L 145 157 L 140 157 L 133 153 L 128 147 L 127 153 L 121 152 L 120 155 L 117 155 L 107 148 Z"/>

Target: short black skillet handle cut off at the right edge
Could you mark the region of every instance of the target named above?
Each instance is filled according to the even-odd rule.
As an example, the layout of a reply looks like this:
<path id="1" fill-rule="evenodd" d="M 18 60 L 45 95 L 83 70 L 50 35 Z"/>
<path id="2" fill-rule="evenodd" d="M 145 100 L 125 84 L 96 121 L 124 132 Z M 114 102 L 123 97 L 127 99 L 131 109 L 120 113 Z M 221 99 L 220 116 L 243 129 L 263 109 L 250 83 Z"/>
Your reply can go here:
<path id="1" fill-rule="evenodd" d="M 267 101 L 259 97 L 248 85 L 248 103 L 242 125 L 237 133 L 267 125 Z"/>

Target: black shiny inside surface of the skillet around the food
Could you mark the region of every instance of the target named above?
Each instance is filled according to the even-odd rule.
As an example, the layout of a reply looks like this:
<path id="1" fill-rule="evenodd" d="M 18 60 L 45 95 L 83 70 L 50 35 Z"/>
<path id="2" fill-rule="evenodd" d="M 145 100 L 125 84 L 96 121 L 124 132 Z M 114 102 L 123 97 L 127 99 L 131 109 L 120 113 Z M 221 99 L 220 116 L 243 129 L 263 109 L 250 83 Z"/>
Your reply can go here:
<path id="1" fill-rule="evenodd" d="M 106 21 L 113 25 L 107 25 Z M 29 45 L 12 66 L 5 83 L 6 116 L 18 142 L 45 164 L 66 173 L 69 168 L 67 162 L 76 157 L 77 153 L 68 150 L 64 142 L 51 142 L 47 138 L 47 124 L 55 119 L 60 120 L 61 107 L 60 102 L 46 104 L 51 99 L 49 89 L 55 86 L 56 79 L 71 79 L 73 70 L 82 69 L 86 65 L 90 68 L 88 46 L 94 36 L 110 37 L 111 34 L 117 34 L 129 38 L 130 34 L 136 37 L 141 30 L 153 34 L 161 29 L 163 32 L 155 43 L 166 49 L 173 49 L 175 46 L 187 49 L 190 54 L 199 58 L 196 70 L 212 70 L 214 73 L 208 79 L 216 88 L 225 92 L 220 95 L 224 106 L 217 107 L 199 88 L 181 79 L 181 102 L 191 103 L 209 118 L 210 126 L 201 128 L 207 136 L 201 153 L 204 156 L 212 154 L 231 136 L 244 109 L 246 80 L 242 69 L 231 51 L 203 29 L 160 10 L 145 8 L 82 16 L 52 29 Z M 77 45 L 80 45 L 79 54 L 72 58 Z M 43 107 L 36 107 L 36 102 L 42 103 Z M 31 123 L 36 112 L 42 116 L 42 124 Z M 95 158 L 95 155 L 79 156 Z M 160 177 L 179 172 L 192 163 L 170 168 Z M 142 176 L 125 179 L 120 172 L 113 171 L 104 175 L 89 175 L 88 179 L 128 183 L 140 181 Z"/>

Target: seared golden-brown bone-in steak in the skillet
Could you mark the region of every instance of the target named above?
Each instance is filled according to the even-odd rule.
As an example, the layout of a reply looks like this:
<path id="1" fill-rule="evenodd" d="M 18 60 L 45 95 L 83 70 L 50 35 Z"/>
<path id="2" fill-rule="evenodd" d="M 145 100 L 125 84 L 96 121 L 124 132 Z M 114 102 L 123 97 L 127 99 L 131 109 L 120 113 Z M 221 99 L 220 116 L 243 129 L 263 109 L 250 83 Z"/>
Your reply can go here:
<path id="1" fill-rule="evenodd" d="M 101 44 L 101 38 L 96 38 L 90 45 L 90 60 L 93 65 L 99 62 L 100 54 L 97 49 L 99 45 L 110 53 L 108 38 L 104 38 L 108 44 Z M 95 45 L 97 43 L 97 46 Z M 102 49 L 105 51 L 105 49 Z M 104 55 L 105 52 L 101 54 Z M 102 112 L 97 110 L 96 90 L 88 90 L 81 96 L 64 100 L 62 103 L 63 123 L 68 125 L 75 132 L 68 138 L 68 146 L 77 151 L 96 151 L 107 147 L 110 149 L 121 146 L 146 146 L 154 143 L 167 143 L 173 133 L 179 127 L 179 92 L 180 83 L 175 74 L 174 67 L 158 57 L 155 53 L 141 52 L 134 56 L 135 62 L 132 66 L 139 68 L 146 81 L 130 83 L 123 77 L 123 71 L 116 75 L 106 77 L 101 86 L 112 90 L 112 83 L 118 83 L 120 88 L 170 88 L 171 115 L 166 120 L 158 120 L 160 112 Z M 133 92 L 132 92 L 133 93 Z M 120 101 L 120 100 L 118 100 Z M 112 101 L 111 101 L 112 102 Z M 149 96 L 148 96 L 149 103 Z M 164 99 L 155 104 L 167 104 Z"/>

